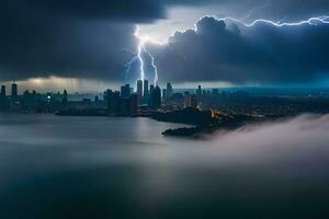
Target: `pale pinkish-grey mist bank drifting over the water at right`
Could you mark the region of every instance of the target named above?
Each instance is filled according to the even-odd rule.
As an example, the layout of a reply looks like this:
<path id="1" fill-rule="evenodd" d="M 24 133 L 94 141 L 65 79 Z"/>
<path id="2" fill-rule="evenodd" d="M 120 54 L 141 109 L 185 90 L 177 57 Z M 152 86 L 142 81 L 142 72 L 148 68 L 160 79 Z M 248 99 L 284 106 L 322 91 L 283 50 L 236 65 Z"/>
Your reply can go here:
<path id="1" fill-rule="evenodd" d="M 219 130 L 195 143 L 212 161 L 325 162 L 329 166 L 329 115 L 304 114 Z M 211 159 L 212 158 L 212 159 Z"/>

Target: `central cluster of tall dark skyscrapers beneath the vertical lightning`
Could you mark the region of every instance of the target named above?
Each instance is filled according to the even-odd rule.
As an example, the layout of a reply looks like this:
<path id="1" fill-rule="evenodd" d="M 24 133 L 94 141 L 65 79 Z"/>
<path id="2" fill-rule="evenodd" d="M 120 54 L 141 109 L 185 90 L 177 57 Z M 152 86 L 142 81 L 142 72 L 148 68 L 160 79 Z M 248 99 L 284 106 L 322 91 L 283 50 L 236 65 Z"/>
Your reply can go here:
<path id="1" fill-rule="evenodd" d="M 211 100 L 220 96 L 218 89 L 174 92 L 170 82 L 162 90 L 158 84 L 150 84 L 148 80 L 137 80 L 136 89 L 131 84 L 121 87 L 121 91 L 106 90 L 104 103 L 110 114 L 145 115 L 155 111 L 177 111 L 182 108 L 211 107 Z"/>

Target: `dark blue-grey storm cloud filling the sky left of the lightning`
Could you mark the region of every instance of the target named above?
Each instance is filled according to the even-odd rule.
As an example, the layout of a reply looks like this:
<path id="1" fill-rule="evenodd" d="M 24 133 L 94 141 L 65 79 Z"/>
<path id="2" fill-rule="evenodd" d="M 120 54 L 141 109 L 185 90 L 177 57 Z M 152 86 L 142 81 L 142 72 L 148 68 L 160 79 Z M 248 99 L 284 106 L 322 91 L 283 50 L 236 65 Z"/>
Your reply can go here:
<path id="1" fill-rule="evenodd" d="M 133 56 L 125 49 L 132 50 L 136 45 L 135 25 L 113 20 L 154 19 L 140 12 L 125 15 L 125 10 L 107 15 L 101 8 L 109 1 L 100 1 L 94 8 L 90 4 L 90 13 L 87 2 L 91 1 L 79 1 L 86 3 L 77 4 L 80 7 L 76 11 L 70 9 L 73 1 L 43 2 L 0 2 L 0 79 L 55 74 L 121 80 L 124 64 Z M 64 2 L 68 3 L 65 15 L 60 9 Z"/>

